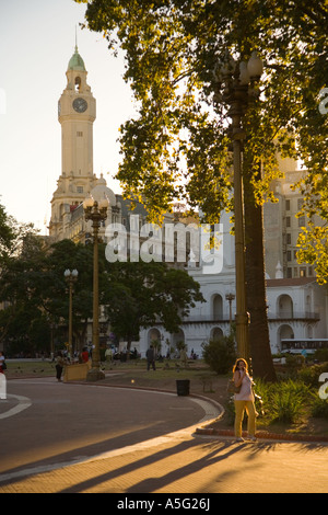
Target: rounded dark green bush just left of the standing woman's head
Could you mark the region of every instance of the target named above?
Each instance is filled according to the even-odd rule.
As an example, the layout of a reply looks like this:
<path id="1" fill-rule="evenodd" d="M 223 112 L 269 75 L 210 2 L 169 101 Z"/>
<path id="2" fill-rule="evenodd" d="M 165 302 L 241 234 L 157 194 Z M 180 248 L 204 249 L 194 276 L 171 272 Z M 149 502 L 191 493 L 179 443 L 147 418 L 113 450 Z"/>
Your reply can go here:
<path id="1" fill-rule="evenodd" d="M 236 360 L 236 350 L 234 336 L 222 336 L 218 340 L 210 340 L 202 343 L 202 357 L 210 368 L 216 374 L 227 374 L 232 370 Z"/>

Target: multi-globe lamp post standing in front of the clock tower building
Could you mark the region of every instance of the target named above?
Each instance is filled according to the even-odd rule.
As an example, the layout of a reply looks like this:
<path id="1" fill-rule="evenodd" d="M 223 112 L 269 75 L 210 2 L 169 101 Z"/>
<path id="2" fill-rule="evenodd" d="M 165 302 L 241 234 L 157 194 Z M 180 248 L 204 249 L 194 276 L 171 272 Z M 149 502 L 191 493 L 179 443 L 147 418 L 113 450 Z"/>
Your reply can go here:
<path id="1" fill-rule="evenodd" d="M 98 290 L 98 232 L 101 222 L 107 218 L 108 201 L 104 198 L 94 201 L 85 198 L 83 209 L 85 220 L 92 221 L 93 228 L 93 323 L 92 323 L 92 368 L 89 370 L 86 380 L 97 381 L 104 379 L 105 374 L 101 370 L 99 352 L 99 290 Z"/>

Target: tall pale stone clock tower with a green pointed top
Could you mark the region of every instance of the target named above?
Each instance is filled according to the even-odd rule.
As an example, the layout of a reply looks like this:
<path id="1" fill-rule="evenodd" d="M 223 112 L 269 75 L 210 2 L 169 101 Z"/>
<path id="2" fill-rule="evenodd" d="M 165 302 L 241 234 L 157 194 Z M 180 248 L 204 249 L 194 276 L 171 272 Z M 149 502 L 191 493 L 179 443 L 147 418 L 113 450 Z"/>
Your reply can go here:
<path id="1" fill-rule="evenodd" d="M 66 72 L 67 84 L 58 102 L 61 125 L 61 175 L 51 199 L 49 236 L 65 238 L 68 217 L 96 185 L 93 173 L 93 123 L 96 102 L 86 82 L 87 71 L 78 46 Z"/>

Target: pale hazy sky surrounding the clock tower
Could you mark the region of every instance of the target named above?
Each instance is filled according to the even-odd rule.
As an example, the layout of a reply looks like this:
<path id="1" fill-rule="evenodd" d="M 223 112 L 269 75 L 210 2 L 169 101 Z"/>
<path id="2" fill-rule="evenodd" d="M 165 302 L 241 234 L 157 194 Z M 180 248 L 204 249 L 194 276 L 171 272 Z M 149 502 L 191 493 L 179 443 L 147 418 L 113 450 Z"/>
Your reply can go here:
<path id="1" fill-rule="evenodd" d="M 121 159 L 118 128 L 133 116 L 124 57 L 101 33 L 81 30 L 85 4 L 73 0 L 0 0 L 0 204 L 19 222 L 48 233 L 50 201 L 61 174 L 58 100 L 68 62 L 79 54 L 96 99 L 94 173 L 119 193 L 113 178 Z"/>

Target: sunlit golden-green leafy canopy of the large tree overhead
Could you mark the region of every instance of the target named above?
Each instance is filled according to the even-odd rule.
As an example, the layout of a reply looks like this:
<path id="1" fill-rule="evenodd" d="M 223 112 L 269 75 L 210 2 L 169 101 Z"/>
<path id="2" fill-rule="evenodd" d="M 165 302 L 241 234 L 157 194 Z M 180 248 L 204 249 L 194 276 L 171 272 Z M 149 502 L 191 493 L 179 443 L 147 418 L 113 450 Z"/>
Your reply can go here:
<path id="1" fill-rule="evenodd" d="M 226 50 L 247 61 L 256 49 L 265 64 L 260 102 L 244 119 L 245 163 L 261 163 L 260 180 L 244 167 L 253 196 L 259 204 L 272 198 L 278 151 L 304 162 L 307 173 L 295 185 L 304 211 L 327 219 L 328 116 L 318 110 L 328 75 L 325 0 L 75 1 L 87 3 L 86 26 L 125 53 L 139 113 L 120 127 L 117 178 L 153 218 L 176 199 L 201 207 L 208 221 L 232 208 L 229 130 L 213 70 Z M 308 231 L 327 275 L 327 253 L 316 250 L 313 226 Z M 327 231 L 319 234 L 325 241 Z"/>

